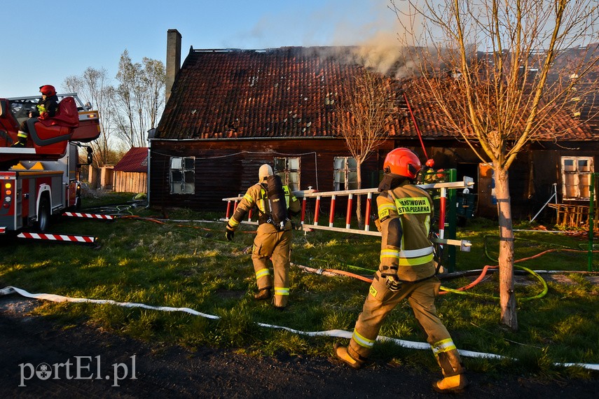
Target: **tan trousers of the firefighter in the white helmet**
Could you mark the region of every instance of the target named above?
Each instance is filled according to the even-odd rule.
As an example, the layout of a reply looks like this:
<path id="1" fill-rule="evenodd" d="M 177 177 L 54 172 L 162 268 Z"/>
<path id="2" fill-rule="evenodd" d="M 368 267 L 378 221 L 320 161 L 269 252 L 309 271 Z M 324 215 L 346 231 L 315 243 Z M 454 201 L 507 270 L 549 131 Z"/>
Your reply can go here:
<path id="1" fill-rule="evenodd" d="M 252 249 L 252 262 L 256 272 L 258 289 L 274 288 L 276 307 L 287 306 L 289 300 L 289 251 L 291 250 L 291 230 L 280 231 L 270 223 L 258 226 Z M 270 275 L 268 260 L 273 262 L 273 276 Z M 274 280 L 274 285 L 273 285 Z"/>

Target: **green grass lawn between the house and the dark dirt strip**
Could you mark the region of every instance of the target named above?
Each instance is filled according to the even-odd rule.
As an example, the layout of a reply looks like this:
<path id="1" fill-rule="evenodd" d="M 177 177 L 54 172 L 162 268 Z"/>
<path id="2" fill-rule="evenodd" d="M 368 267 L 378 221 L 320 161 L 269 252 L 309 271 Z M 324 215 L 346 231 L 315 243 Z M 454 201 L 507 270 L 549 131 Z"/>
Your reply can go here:
<path id="1" fill-rule="evenodd" d="M 241 353 L 271 355 L 277 351 L 329 356 L 338 338 L 309 337 L 257 323 L 303 331 L 352 330 L 362 309 L 368 283 L 350 276 L 326 276 L 291 267 L 290 305 L 277 311 L 253 300 L 256 282 L 249 249 L 253 226 L 242 225 L 233 242 L 224 237 L 223 214 L 186 209 L 159 221 L 158 212 L 127 204 L 131 194 L 88 198 L 83 211 L 118 213 L 116 221 L 62 218 L 50 232 L 94 235 L 97 244 L 20 241 L 3 237 L 0 244 L 0 288 L 16 286 L 30 293 L 141 302 L 154 306 L 188 307 L 219 319 L 184 312 L 125 308 L 112 304 L 39 302 L 34 313 L 55 318 L 69 328 L 87 323 L 117 334 L 156 344 L 219 346 Z M 119 207 L 116 207 L 119 205 Z M 224 205 L 223 205 L 224 209 Z M 193 222 L 188 222 L 193 221 Z M 198 222 L 206 221 L 206 222 Z M 212 221 L 212 223 L 211 223 Z M 515 225 L 530 230 L 530 226 Z M 551 230 L 551 229 L 550 229 Z M 473 220 L 458 229 L 469 239 L 471 252 L 458 252 L 456 271 L 496 265 L 497 225 Z M 502 328 L 497 274 L 468 290 L 446 293 L 437 300 L 439 315 L 459 349 L 495 353 L 505 360 L 464 358 L 474 372 L 526 373 L 537 377 L 591 378 L 596 372 L 554 363 L 599 363 L 598 286 L 586 279 L 586 241 L 579 236 L 516 232 L 516 260 L 533 270 L 564 270 L 572 283 L 543 284 L 531 274 L 518 274 L 519 330 Z M 377 237 L 338 232 L 294 232 L 292 262 L 315 269 L 342 269 L 369 276 L 378 267 Z M 596 255 L 599 258 L 599 255 Z M 595 260 L 597 269 L 598 260 Z M 466 276 L 443 281 L 447 288 L 471 282 Z M 478 295 L 470 295 L 474 293 Z M 540 296 L 540 297 L 537 297 Z M 535 299 L 530 299 L 537 297 Z M 425 342 L 407 302 L 387 318 L 381 335 Z M 378 343 L 373 360 L 437 370 L 430 351 Z"/>

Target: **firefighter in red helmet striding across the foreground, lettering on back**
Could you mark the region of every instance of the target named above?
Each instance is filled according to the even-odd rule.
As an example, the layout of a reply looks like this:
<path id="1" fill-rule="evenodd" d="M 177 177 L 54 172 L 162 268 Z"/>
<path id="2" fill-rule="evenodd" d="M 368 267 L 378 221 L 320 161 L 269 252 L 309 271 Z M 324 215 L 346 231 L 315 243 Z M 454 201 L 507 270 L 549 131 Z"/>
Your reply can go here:
<path id="1" fill-rule="evenodd" d="M 436 381 L 433 388 L 458 392 L 468 382 L 460 354 L 434 306 L 441 283 L 435 276 L 433 246 L 428 239 L 433 202 L 425 190 L 413 183 L 421 166 L 418 156 L 408 148 L 395 148 L 385 158 L 376 200 L 377 225 L 382 233 L 380 266 L 350 344 L 335 344 L 334 354 L 351 367 L 362 367 L 385 317 L 406 299 L 443 372 L 443 379 Z"/>

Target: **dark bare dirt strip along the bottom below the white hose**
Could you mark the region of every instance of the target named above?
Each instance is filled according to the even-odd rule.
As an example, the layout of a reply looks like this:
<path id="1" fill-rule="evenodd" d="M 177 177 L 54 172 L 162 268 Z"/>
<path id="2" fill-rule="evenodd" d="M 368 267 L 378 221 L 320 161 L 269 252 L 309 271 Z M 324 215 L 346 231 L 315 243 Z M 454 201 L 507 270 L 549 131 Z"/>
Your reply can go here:
<path id="1" fill-rule="evenodd" d="M 255 358 L 221 349 L 157 346 L 85 325 L 64 329 L 47 318 L 27 315 L 35 306 L 36 300 L 17 295 L 0 297 L 1 397 L 448 397 L 432 391 L 430 384 L 439 375 L 424 370 L 374 364 L 356 371 L 331 358 L 287 353 Z M 77 362 L 79 377 L 85 379 L 76 378 Z M 52 373 L 47 379 L 34 374 L 42 371 L 43 363 Z M 497 380 L 483 373 L 468 376 L 467 398 L 596 398 L 599 391 L 597 379 L 542 384 L 518 377 Z"/>

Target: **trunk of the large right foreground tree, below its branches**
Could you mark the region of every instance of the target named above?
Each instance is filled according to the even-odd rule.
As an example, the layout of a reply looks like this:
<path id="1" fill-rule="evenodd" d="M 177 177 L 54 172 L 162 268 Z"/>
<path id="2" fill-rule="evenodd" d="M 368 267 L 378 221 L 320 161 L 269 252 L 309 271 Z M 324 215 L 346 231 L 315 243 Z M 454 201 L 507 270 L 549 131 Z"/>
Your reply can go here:
<path id="1" fill-rule="evenodd" d="M 514 293 L 514 228 L 511 220 L 508 171 L 495 168 L 495 197 L 499 216 L 500 248 L 500 305 L 501 323 L 511 330 L 518 330 L 516 295 Z"/>

